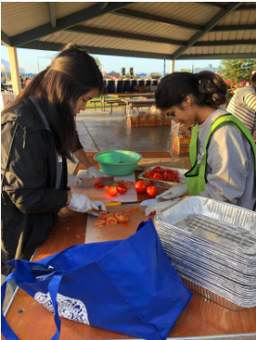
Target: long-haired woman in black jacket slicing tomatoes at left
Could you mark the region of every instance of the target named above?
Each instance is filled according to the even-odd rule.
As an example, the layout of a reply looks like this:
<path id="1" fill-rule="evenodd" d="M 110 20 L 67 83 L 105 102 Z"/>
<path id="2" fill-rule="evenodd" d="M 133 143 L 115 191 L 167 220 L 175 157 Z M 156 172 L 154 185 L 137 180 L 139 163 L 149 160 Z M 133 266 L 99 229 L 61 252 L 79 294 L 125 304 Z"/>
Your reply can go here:
<path id="1" fill-rule="evenodd" d="M 5 261 L 30 259 L 56 225 L 61 208 L 80 213 L 106 210 L 101 202 L 67 191 L 67 159 L 74 161 L 73 155 L 90 167 L 88 175 L 103 175 L 84 150 L 77 150 L 75 123 L 87 101 L 102 89 L 94 58 L 67 45 L 2 112 L 3 275 L 11 272 Z"/>

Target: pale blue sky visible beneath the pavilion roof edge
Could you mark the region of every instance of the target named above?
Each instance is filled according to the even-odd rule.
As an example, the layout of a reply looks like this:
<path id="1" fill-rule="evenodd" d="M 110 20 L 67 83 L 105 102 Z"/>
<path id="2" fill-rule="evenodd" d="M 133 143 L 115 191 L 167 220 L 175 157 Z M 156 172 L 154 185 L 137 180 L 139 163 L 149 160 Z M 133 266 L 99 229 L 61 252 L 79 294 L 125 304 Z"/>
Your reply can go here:
<path id="1" fill-rule="evenodd" d="M 53 51 L 41 51 L 31 50 L 25 48 L 17 48 L 18 63 L 20 67 L 25 68 L 26 73 L 38 73 L 46 68 L 51 63 L 50 58 L 54 58 L 57 52 Z M 97 56 L 101 64 L 104 66 L 105 72 L 116 71 L 120 72 L 121 67 L 128 68 L 133 67 L 134 74 L 151 72 L 163 73 L 163 60 L 159 59 L 145 59 L 145 58 L 131 58 L 124 56 L 109 56 L 109 55 L 93 55 Z M 7 47 L 1 45 L 1 58 L 9 61 Z M 38 62 L 38 64 L 37 64 Z M 192 60 L 179 60 L 175 62 L 175 71 L 179 71 L 181 68 L 192 68 Z M 213 67 L 220 65 L 220 60 L 195 60 L 194 67 L 207 67 L 211 64 Z M 166 72 L 169 73 L 170 62 L 166 61 Z"/>

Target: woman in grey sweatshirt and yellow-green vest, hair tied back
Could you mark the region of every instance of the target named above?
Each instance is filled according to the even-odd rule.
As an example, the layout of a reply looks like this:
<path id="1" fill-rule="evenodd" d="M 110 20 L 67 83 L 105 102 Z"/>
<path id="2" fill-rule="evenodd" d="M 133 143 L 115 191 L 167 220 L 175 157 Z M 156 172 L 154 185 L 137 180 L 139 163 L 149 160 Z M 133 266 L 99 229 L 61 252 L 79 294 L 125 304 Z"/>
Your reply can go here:
<path id="1" fill-rule="evenodd" d="M 226 102 L 226 91 L 220 75 L 209 71 L 173 73 L 160 81 L 156 104 L 161 112 L 173 116 L 176 123 L 195 124 L 186 185 L 163 195 L 200 195 L 254 210 L 256 146 L 245 125 L 220 108 Z M 171 204 L 149 205 L 146 214 Z"/>

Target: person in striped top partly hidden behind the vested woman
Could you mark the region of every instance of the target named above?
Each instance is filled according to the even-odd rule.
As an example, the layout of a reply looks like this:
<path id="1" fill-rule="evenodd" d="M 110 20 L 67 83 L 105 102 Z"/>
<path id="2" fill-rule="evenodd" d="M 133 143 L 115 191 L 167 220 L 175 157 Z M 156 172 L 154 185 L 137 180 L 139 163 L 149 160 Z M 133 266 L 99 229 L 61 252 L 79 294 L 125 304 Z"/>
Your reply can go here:
<path id="1" fill-rule="evenodd" d="M 256 131 L 256 73 L 251 75 L 250 83 L 235 90 L 227 107 L 230 114 L 238 117 L 251 135 Z"/>

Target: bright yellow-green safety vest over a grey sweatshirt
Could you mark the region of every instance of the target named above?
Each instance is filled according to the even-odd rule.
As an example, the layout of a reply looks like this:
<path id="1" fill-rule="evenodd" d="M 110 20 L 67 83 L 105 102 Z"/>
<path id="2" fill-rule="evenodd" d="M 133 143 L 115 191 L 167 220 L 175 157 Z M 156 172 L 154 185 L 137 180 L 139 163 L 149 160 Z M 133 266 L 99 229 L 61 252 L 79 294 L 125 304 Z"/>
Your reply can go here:
<path id="1" fill-rule="evenodd" d="M 206 162 L 207 162 L 207 150 L 210 145 L 210 136 L 214 134 L 216 130 L 224 125 L 236 125 L 241 134 L 243 134 L 248 141 L 251 143 L 251 147 L 255 158 L 255 180 L 256 183 L 256 145 L 250 134 L 249 130 L 241 121 L 234 115 L 221 115 L 215 120 L 215 122 L 210 126 L 210 131 L 206 137 L 204 145 L 204 155 L 201 158 L 200 165 L 197 163 L 198 155 L 198 136 L 199 136 L 199 125 L 197 124 L 191 135 L 191 142 L 189 146 L 189 157 L 191 163 L 191 169 L 185 174 L 186 184 L 188 185 L 189 195 L 200 195 L 201 191 L 205 190 L 205 185 L 207 183 L 206 178 Z"/>

